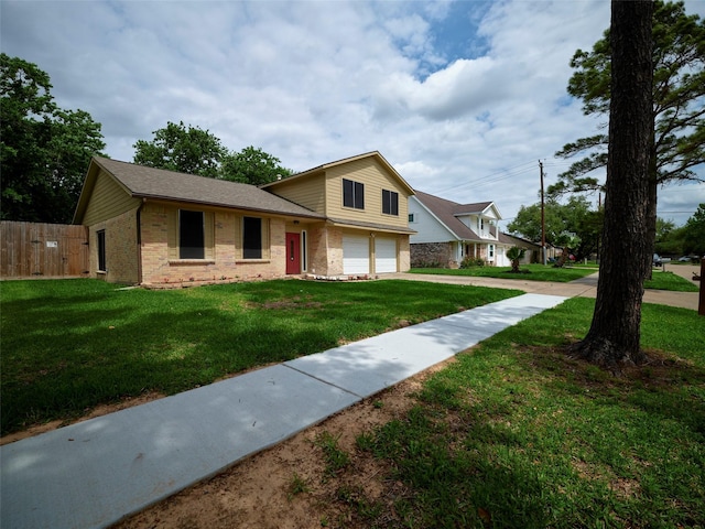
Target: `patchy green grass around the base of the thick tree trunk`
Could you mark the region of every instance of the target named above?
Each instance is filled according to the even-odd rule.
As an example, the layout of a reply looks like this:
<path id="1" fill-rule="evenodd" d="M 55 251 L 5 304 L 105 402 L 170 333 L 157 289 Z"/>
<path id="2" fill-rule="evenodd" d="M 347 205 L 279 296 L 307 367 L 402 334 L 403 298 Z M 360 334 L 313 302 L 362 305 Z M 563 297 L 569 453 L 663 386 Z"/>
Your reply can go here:
<path id="1" fill-rule="evenodd" d="M 495 335 L 358 438 L 403 484 L 364 523 L 705 527 L 705 319 L 644 305 L 652 363 L 615 377 L 565 354 L 593 310 L 571 299 Z"/>

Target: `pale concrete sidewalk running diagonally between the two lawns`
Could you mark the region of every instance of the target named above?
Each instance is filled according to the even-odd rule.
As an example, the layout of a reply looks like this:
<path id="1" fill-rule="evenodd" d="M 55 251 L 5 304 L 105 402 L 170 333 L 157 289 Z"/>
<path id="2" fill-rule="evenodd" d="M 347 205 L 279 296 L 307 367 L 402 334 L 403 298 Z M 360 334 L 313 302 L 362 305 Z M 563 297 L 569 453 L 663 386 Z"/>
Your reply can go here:
<path id="1" fill-rule="evenodd" d="M 528 293 L 0 446 L 0 527 L 107 527 L 565 299 Z"/>

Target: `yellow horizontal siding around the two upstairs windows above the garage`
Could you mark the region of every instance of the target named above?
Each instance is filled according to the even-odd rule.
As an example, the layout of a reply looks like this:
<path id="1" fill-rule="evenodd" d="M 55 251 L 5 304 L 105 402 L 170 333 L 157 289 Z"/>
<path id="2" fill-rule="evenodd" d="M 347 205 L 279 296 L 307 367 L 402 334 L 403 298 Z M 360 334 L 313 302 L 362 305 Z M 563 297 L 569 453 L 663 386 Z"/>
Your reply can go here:
<path id="1" fill-rule="evenodd" d="M 365 209 L 343 206 L 343 179 L 365 184 Z M 399 215 L 382 214 L 382 190 L 399 193 Z M 399 180 L 376 160 L 356 160 L 332 168 L 326 173 L 326 215 L 346 220 L 406 227 L 409 193 Z"/>

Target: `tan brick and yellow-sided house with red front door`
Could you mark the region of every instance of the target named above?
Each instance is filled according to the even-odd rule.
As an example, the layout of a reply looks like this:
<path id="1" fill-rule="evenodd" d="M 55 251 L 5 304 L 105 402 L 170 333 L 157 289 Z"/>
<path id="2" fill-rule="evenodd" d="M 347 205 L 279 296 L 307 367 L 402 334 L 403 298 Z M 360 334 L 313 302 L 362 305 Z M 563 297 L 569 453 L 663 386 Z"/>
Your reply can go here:
<path id="1" fill-rule="evenodd" d="M 94 158 L 74 224 L 110 282 L 366 276 L 410 268 L 412 194 L 379 152 L 263 188 Z"/>

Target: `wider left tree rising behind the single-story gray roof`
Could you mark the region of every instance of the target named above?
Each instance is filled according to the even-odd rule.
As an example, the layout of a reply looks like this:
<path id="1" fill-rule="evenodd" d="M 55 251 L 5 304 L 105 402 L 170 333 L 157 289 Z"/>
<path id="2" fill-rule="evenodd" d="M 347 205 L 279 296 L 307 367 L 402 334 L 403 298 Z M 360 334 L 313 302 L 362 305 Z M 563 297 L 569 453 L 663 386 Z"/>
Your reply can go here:
<path id="1" fill-rule="evenodd" d="M 138 140 L 134 163 L 180 173 L 216 179 L 220 163 L 228 153 L 220 140 L 207 130 L 169 121 L 153 132 L 151 141 Z"/>

